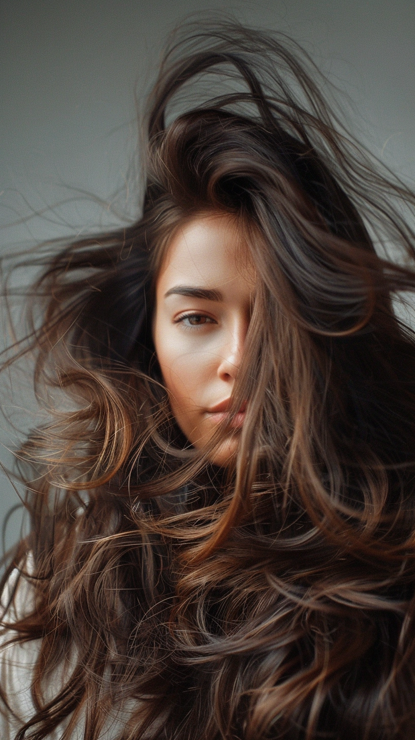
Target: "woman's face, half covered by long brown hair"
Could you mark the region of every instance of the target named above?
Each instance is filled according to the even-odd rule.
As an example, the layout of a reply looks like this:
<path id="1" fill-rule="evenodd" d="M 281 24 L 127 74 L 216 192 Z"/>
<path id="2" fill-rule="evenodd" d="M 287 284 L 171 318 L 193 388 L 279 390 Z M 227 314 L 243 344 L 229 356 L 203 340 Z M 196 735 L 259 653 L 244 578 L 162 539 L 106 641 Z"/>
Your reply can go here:
<path id="1" fill-rule="evenodd" d="M 173 414 L 196 448 L 226 418 L 242 358 L 255 288 L 243 247 L 230 216 L 195 217 L 176 233 L 156 281 L 156 354 Z M 243 420 L 242 408 L 216 465 L 235 453 Z"/>

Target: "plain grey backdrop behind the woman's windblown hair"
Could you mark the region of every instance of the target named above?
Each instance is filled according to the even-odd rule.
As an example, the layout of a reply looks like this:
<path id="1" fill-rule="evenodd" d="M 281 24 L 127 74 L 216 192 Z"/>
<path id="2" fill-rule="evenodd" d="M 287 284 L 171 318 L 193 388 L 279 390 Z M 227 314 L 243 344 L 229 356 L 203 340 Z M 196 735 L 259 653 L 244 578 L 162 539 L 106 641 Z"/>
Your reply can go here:
<path id="1" fill-rule="evenodd" d="M 140 97 L 167 33 L 201 10 L 296 38 L 348 94 L 353 132 L 414 183 L 415 0 L 2 0 L 3 251 L 133 212 L 135 193 L 122 188 L 136 144 L 135 87 Z M 17 388 L 13 401 L 30 410 Z M 16 440 L 4 423 L 0 431 L 8 462 Z M 5 477 L 0 485 L 2 519 L 18 498 Z M 18 531 L 15 515 L 7 543 Z"/>

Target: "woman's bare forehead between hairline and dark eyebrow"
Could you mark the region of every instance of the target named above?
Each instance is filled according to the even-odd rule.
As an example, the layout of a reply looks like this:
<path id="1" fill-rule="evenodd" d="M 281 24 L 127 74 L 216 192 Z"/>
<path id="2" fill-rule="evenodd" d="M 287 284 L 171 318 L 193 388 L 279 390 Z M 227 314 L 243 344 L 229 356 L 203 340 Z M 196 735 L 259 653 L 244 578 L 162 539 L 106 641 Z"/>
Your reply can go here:
<path id="1" fill-rule="evenodd" d="M 229 215 L 199 215 L 176 231 L 157 279 L 162 283 L 198 285 L 254 282 L 247 242 L 236 219 Z"/>

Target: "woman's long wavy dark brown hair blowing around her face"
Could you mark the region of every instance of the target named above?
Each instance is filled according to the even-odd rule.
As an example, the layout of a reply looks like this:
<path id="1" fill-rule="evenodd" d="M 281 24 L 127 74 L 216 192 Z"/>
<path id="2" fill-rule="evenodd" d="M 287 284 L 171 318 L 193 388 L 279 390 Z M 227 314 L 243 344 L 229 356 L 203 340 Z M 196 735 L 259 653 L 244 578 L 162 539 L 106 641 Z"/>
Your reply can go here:
<path id="1" fill-rule="evenodd" d="M 206 73 L 235 90 L 166 124 Z M 16 355 L 67 402 L 17 455 L 31 531 L 4 578 L 30 556 L 13 629 L 41 639 L 19 740 L 65 719 L 98 740 L 115 709 L 119 740 L 413 737 L 415 340 L 392 299 L 415 289 L 415 197 L 323 84 L 282 34 L 187 25 L 147 107 L 139 219 L 44 264 Z M 209 212 L 257 274 L 226 471 L 177 428 L 151 337 L 169 240 Z"/>

